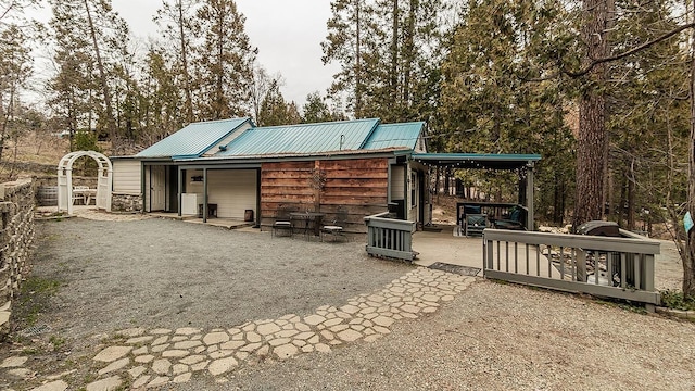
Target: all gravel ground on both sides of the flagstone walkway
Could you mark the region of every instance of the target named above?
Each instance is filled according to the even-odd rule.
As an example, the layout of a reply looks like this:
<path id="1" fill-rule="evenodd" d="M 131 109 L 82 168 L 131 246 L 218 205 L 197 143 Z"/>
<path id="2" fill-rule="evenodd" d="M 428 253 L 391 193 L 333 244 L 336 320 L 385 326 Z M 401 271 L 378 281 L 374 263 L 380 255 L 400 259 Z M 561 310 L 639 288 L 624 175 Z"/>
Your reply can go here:
<path id="1" fill-rule="evenodd" d="M 163 219 L 76 218 L 37 228 L 33 275 L 62 285 L 38 323 L 67 341 L 61 354 L 75 363 L 93 356 L 90 344 L 114 330 L 309 314 L 413 268 L 366 256 L 362 242 L 270 239 Z M 479 279 L 376 342 L 251 361 L 223 378 L 194 376 L 167 389 L 693 390 L 694 332 L 688 321 Z M 35 358 L 70 369 L 56 354 Z"/>

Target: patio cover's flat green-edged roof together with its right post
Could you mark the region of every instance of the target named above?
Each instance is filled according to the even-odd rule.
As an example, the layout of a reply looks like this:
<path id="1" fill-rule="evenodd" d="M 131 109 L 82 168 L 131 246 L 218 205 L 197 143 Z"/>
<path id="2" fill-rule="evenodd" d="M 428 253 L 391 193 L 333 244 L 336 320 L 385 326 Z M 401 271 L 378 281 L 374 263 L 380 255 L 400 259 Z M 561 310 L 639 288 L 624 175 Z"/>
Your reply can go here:
<path id="1" fill-rule="evenodd" d="M 470 169 L 516 171 L 519 175 L 519 204 L 527 210 L 526 227 L 533 230 L 533 167 L 539 154 L 413 153 L 416 162 L 429 166 Z"/>

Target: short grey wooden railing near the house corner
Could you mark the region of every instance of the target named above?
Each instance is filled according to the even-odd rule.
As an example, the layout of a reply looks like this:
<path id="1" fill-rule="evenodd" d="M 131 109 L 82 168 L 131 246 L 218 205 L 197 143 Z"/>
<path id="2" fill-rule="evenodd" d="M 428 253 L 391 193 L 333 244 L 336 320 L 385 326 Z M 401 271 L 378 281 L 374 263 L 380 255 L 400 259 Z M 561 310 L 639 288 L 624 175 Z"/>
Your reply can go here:
<path id="1" fill-rule="evenodd" d="M 380 213 L 365 217 L 367 225 L 367 253 L 413 261 L 417 255 L 413 251 L 413 232 L 415 222 L 387 218 L 389 213 Z"/>

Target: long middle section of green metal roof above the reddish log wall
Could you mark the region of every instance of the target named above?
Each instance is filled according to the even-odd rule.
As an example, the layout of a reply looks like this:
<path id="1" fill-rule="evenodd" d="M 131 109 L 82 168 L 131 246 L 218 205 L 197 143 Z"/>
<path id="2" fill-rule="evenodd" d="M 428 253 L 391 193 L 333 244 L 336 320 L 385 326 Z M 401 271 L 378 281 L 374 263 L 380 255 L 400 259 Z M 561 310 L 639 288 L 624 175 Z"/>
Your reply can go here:
<path id="1" fill-rule="evenodd" d="M 215 156 L 305 154 L 363 148 L 379 119 L 300 124 L 251 128 Z"/>

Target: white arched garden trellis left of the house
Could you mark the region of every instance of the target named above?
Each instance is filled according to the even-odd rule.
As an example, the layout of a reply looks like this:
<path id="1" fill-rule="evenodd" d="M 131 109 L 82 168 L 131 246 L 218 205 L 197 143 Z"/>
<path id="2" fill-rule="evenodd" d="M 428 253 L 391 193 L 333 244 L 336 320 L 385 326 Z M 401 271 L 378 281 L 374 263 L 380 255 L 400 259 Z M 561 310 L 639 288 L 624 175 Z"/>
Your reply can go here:
<path id="1" fill-rule="evenodd" d="M 109 157 L 94 151 L 71 152 L 58 164 L 58 211 L 73 214 L 73 163 L 81 156 L 89 156 L 99 164 L 97 174 L 97 207 L 111 212 L 111 184 L 113 167 Z"/>

